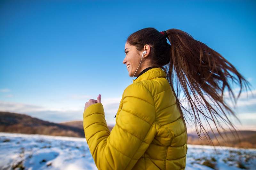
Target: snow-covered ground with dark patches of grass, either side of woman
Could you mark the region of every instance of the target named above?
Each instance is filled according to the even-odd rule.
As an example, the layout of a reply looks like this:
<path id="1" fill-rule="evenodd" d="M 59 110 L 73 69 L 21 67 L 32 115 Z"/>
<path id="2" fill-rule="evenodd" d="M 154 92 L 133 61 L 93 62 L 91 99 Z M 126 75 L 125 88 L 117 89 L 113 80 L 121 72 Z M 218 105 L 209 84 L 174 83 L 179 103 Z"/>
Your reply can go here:
<path id="1" fill-rule="evenodd" d="M 256 169 L 256 149 L 188 145 L 186 170 Z M 208 160 L 208 161 L 207 161 Z M 207 163 L 208 162 L 208 163 Z M 0 132 L 0 169 L 97 169 L 85 138 Z"/>

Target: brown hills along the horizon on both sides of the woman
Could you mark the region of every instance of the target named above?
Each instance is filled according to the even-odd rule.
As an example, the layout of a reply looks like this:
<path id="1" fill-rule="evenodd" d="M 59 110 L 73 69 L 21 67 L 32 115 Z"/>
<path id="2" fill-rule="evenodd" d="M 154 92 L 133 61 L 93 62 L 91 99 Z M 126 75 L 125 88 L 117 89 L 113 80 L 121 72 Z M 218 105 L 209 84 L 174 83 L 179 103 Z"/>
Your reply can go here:
<path id="1" fill-rule="evenodd" d="M 113 126 L 108 126 L 111 131 Z M 13 133 L 27 133 L 27 134 L 44 134 L 53 136 L 68 136 L 68 137 L 81 137 L 84 138 L 83 121 L 70 121 L 64 123 L 52 123 L 44 120 L 40 120 L 34 117 L 30 117 L 25 114 L 1 112 L 0 111 L 0 131 L 1 132 L 13 132 Z M 232 132 L 215 133 L 221 146 L 230 147 L 242 147 L 242 148 L 256 148 L 256 131 L 237 131 L 240 137 L 240 141 L 237 136 L 233 136 Z M 225 135 L 226 134 L 226 135 Z M 214 137 L 214 134 L 209 133 L 212 142 L 215 146 L 219 143 Z M 212 145 L 201 134 L 199 139 L 196 132 L 188 133 L 188 144 L 194 145 Z"/>

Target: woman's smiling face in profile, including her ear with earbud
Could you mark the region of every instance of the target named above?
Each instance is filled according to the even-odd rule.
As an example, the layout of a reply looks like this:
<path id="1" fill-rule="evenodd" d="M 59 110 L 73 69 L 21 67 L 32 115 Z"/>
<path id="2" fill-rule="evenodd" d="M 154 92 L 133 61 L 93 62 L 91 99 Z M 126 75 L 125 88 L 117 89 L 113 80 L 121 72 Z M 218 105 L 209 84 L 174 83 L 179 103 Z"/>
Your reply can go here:
<path id="1" fill-rule="evenodd" d="M 140 63 L 142 53 L 145 50 L 147 51 L 147 53 L 144 54 L 144 57 Z M 130 44 L 128 44 L 126 42 L 125 46 L 124 46 L 124 51 L 125 51 L 125 58 L 123 60 L 123 63 L 126 65 L 126 69 L 129 73 L 130 77 L 132 77 L 134 75 L 139 64 L 140 64 L 140 67 L 136 71 L 136 74 L 134 75 L 135 77 L 138 77 L 138 75 L 140 74 L 140 72 L 142 70 L 144 70 L 147 67 L 150 67 L 150 66 L 148 66 L 148 62 L 147 62 L 148 61 L 147 56 L 149 53 L 148 45 L 145 45 L 143 51 L 138 51 L 135 46 L 131 46 Z"/>

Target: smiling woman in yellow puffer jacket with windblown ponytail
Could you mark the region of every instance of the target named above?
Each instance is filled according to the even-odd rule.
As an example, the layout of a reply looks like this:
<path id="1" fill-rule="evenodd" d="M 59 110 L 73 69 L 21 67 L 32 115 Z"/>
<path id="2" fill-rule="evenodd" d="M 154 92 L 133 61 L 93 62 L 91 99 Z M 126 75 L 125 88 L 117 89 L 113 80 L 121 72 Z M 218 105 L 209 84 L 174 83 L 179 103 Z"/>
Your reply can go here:
<path id="1" fill-rule="evenodd" d="M 233 94 L 227 78 L 234 81 L 235 77 L 229 72 L 236 74 L 241 89 L 242 82 L 248 82 L 219 53 L 181 30 L 159 32 L 145 28 L 128 37 L 125 54 L 123 63 L 129 76 L 137 78 L 124 90 L 111 133 L 100 95 L 97 100 L 85 103 L 85 138 L 99 169 L 185 169 L 187 128 L 181 110 L 184 107 L 174 92 L 174 71 L 193 112 L 184 109 L 193 116 L 195 124 L 199 123 L 200 129 L 207 133 L 198 112 L 215 126 L 219 124 L 216 117 L 219 116 L 233 127 L 222 110 L 224 106 L 234 115 L 223 101 L 225 86 Z M 169 67 L 168 72 L 163 66 Z M 222 112 L 216 112 L 205 94 L 219 106 L 223 105 Z M 199 104 L 208 109 L 208 115 Z"/>

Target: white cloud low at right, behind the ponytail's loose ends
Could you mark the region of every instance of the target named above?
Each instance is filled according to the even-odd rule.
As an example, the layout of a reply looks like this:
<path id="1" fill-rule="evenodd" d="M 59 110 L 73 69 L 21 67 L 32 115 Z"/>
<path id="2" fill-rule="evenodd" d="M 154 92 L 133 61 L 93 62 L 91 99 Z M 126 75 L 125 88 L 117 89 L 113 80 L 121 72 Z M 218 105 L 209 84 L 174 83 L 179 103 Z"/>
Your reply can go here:
<path id="1" fill-rule="evenodd" d="M 237 96 L 238 93 L 239 93 L 239 88 L 232 89 L 232 90 L 233 90 L 235 96 Z M 183 93 L 183 92 L 181 92 L 181 93 Z M 234 104 L 233 100 L 231 102 L 229 98 L 226 98 L 226 96 L 228 96 L 228 92 L 224 93 L 224 96 L 223 96 L 224 100 L 228 104 L 228 106 L 230 106 L 232 109 L 234 109 L 232 107 L 232 106 L 234 106 L 233 105 Z M 192 100 L 193 100 L 194 96 L 191 96 L 191 97 L 192 97 Z M 220 114 L 219 107 L 217 108 L 217 106 L 215 105 L 216 102 L 214 100 L 212 101 L 208 97 L 208 95 L 204 95 L 204 97 L 205 97 L 206 101 L 209 102 L 214 109 L 217 109 L 217 112 Z M 201 98 L 199 97 L 199 99 L 201 99 Z M 194 102 L 195 102 L 195 99 L 194 99 Z M 202 100 L 202 102 L 203 102 L 203 100 Z M 183 101 L 181 102 L 181 104 L 187 110 L 189 110 L 190 112 L 193 113 L 193 111 L 191 110 L 191 107 L 188 103 L 188 100 L 186 98 L 183 97 Z M 199 107 L 198 103 L 196 103 L 196 106 Z M 205 106 L 200 105 L 200 107 L 201 107 L 201 109 L 202 109 L 202 111 L 204 112 L 205 115 L 207 115 L 207 116 L 210 115 L 207 108 L 204 108 Z M 222 108 L 222 109 L 224 109 L 224 108 Z M 236 116 L 238 117 L 238 119 L 241 121 L 242 124 L 240 124 L 233 115 L 227 114 L 227 112 L 225 112 L 225 113 L 227 114 L 229 120 L 231 122 L 233 122 L 235 127 L 237 127 L 237 129 L 239 129 L 239 130 L 255 130 L 256 131 L 256 112 L 255 112 L 255 109 L 256 109 L 256 90 L 252 90 L 252 92 L 250 90 L 248 90 L 248 92 L 246 92 L 246 91 L 241 92 L 241 94 L 240 94 L 240 96 L 237 100 L 236 110 L 234 110 Z M 226 111 L 226 110 L 224 109 L 224 111 Z M 189 129 L 189 131 L 191 131 L 193 128 L 195 128 L 195 125 L 192 124 L 193 121 L 194 121 L 194 117 L 193 116 L 191 117 L 191 115 L 186 113 L 186 112 L 184 112 L 184 113 L 185 113 L 185 116 L 186 116 L 187 120 L 189 121 L 188 129 Z M 210 129 L 209 125 L 204 120 L 203 115 L 200 114 L 200 113 L 199 113 L 199 115 L 200 115 L 199 117 L 200 117 L 204 127 L 206 129 Z M 221 113 L 221 116 L 224 117 L 224 115 L 222 113 Z M 197 118 L 198 118 L 198 116 L 197 116 Z M 218 120 L 220 121 L 221 126 L 228 130 L 228 127 L 225 125 L 223 120 L 221 120 L 220 118 L 218 118 Z M 215 125 L 213 124 L 213 122 L 211 120 L 209 120 L 209 123 L 210 123 L 210 126 L 212 128 L 215 127 Z M 191 124 L 191 126 L 189 124 Z"/>

